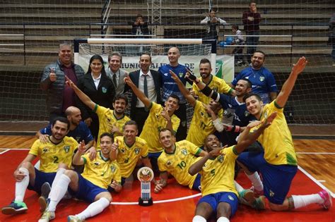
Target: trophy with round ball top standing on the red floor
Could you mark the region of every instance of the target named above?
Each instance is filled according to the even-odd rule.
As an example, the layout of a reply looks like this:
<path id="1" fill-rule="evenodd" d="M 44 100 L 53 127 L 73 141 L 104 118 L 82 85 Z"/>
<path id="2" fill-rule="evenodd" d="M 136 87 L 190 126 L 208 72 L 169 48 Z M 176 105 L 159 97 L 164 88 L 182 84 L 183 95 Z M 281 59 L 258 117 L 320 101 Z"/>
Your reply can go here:
<path id="1" fill-rule="evenodd" d="M 148 167 L 142 167 L 137 172 L 137 178 L 141 181 L 141 197 L 139 197 L 140 206 L 151 206 L 153 199 L 151 198 L 151 180 L 153 180 L 153 170 Z"/>

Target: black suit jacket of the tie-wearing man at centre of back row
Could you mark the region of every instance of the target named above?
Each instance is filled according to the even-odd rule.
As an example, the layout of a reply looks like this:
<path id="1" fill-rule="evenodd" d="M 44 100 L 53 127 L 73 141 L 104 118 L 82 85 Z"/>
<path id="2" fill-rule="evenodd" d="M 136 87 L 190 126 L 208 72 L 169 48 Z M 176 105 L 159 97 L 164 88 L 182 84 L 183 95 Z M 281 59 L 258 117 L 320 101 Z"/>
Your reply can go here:
<path id="1" fill-rule="evenodd" d="M 162 80 L 161 80 L 161 76 L 160 73 L 158 73 L 158 71 L 155 70 L 150 70 L 151 75 L 153 75 L 153 82 L 155 83 L 155 90 L 157 92 L 157 101 L 155 101 L 157 104 L 161 104 L 162 99 L 160 96 L 160 88 L 162 87 Z M 134 84 L 136 85 L 136 87 L 139 87 L 139 75 L 140 75 L 140 70 L 136 70 L 134 72 L 129 73 L 129 77 L 131 78 L 131 81 L 134 82 Z M 130 90 L 130 87 L 128 85 L 126 85 L 126 88 L 124 89 L 124 91 L 126 92 L 127 90 Z M 130 106 L 130 118 L 133 119 L 135 113 L 135 109 L 136 109 L 136 101 L 137 101 L 137 97 L 134 94 L 134 92 L 131 92 L 131 106 Z"/>

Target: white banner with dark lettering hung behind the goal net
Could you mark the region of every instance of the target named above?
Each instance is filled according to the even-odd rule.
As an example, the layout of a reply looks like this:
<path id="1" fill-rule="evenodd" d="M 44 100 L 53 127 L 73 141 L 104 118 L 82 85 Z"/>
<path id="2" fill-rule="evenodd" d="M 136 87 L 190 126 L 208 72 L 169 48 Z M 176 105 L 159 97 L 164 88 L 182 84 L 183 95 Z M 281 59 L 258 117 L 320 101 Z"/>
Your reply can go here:
<path id="1" fill-rule="evenodd" d="M 80 54 L 79 55 L 79 65 L 83 67 L 84 70 L 88 70 L 88 63 L 90 61 L 90 54 Z M 105 68 L 108 67 L 108 56 L 102 55 L 105 63 Z M 179 63 L 190 68 L 193 73 L 199 76 L 199 62 L 201 58 L 211 59 L 210 56 L 180 56 Z M 153 56 L 151 69 L 158 70 L 160 66 L 164 66 L 169 63 L 167 56 Z M 139 70 L 139 56 L 123 56 L 122 57 L 122 69 L 128 72 Z M 214 70 L 213 70 L 214 71 Z M 220 55 L 216 56 L 216 76 L 223 78 L 225 82 L 232 82 L 234 79 L 234 56 L 230 55 Z"/>

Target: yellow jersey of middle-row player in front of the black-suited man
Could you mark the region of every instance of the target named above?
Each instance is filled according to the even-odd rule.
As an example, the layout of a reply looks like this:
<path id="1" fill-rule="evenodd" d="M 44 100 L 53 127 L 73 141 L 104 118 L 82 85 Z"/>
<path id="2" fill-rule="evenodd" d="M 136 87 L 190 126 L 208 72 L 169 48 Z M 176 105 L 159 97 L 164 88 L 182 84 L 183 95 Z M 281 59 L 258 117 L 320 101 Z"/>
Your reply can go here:
<path id="1" fill-rule="evenodd" d="M 160 114 L 164 108 L 160 104 L 156 104 L 152 101 L 149 109 L 149 116 L 146 118 L 146 122 L 143 125 L 143 130 L 139 137 L 146 140 L 148 143 L 149 152 L 162 152 L 163 148 L 160 145 L 159 131 L 160 129 L 166 128 L 167 125 L 166 119 Z M 173 130 L 177 132 L 177 129 L 180 125 L 180 118 L 173 114 L 171 116 L 171 122 Z"/>

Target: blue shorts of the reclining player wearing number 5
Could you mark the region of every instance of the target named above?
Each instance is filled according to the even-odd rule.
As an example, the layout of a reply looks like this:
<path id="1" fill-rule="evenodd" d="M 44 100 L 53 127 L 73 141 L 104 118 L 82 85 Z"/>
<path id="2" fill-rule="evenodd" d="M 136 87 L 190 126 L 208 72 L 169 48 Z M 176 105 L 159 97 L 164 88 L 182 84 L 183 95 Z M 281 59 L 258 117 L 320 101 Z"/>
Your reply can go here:
<path id="1" fill-rule="evenodd" d="M 237 196 L 233 192 L 217 192 L 215 194 L 206 195 L 204 197 L 201 197 L 201 199 L 199 199 L 198 205 L 201 204 L 202 202 L 211 205 L 214 214 L 216 214 L 216 209 L 218 208 L 219 203 L 221 202 L 228 203 L 231 208 L 230 217 L 235 215 L 238 206 Z"/>

